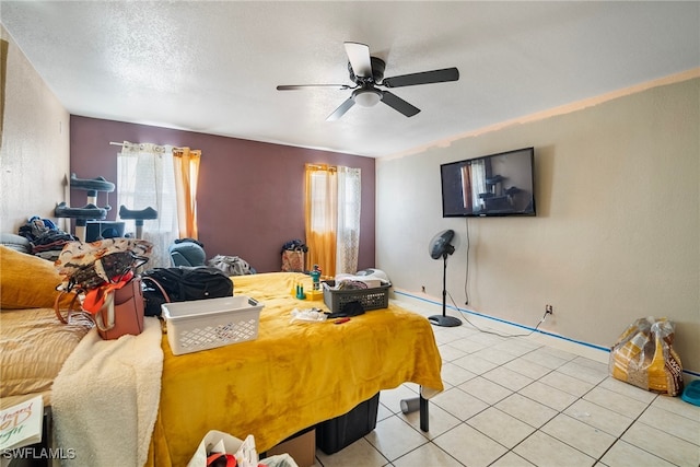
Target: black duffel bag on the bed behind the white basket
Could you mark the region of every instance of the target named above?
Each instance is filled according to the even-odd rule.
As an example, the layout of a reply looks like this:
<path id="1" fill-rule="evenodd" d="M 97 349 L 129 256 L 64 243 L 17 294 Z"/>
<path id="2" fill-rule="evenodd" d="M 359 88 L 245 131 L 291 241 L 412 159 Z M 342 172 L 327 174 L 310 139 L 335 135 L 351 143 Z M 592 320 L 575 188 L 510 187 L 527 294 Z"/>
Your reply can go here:
<path id="1" fill-rule="evenodd" d="M 233 295 L 229 276 L 209 266 L 149 269 L 141 273 L 141 283 L 145 316 L 161 316 L 163 303 Z"/>

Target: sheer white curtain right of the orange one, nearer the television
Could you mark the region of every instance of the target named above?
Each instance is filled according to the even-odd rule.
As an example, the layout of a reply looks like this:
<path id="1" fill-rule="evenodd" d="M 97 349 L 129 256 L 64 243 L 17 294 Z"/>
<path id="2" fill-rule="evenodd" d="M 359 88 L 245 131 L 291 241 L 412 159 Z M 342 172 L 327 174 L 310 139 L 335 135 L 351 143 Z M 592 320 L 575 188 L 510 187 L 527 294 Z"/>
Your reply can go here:
<path id="1" fill-rule="evenodd" d="M 354 273 L 360 250 L 360 168 L 338 167 L 336 273 Z"/>

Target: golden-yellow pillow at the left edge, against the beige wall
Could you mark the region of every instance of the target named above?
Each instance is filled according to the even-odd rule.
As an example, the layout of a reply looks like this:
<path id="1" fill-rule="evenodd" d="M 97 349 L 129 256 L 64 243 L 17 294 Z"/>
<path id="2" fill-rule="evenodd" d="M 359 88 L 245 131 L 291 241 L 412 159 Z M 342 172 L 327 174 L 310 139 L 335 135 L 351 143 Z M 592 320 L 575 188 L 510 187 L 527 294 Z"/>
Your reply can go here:
<path id="1" fill-rule="evenodd" d="M 52 308 L 61 276 L 54 264 L 0 245 L 0 308 Z M 61 297 L 68 308 L 71 294 Z"/>

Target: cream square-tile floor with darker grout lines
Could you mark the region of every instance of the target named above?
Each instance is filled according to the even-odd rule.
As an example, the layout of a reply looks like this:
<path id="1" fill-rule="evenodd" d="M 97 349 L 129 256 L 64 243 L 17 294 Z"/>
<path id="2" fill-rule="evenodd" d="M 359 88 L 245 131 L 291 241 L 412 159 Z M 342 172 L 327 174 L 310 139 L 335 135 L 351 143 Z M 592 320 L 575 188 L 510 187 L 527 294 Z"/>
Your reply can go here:
<path id="1" fill-rule="evenodd" d="M 700 407 L 614 380 L 602 359 L 536 334 L 433 329 L 445 390 L 431 399 L 430 432 L 400 410 L 417 385 L 383 390 L 376 429 L 336 454 L 317 450 L 317 467 L 700 466 Z"/>

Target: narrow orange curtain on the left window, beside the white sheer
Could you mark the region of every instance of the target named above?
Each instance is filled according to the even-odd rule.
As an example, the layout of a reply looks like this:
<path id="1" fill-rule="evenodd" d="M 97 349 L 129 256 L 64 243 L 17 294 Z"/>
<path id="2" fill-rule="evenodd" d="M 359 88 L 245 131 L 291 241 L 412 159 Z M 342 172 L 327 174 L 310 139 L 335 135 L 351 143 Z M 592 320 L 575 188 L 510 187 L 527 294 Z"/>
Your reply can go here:
<path id="1" fill-rule="evenodd" d="M 180 238 L 198 238 L 197 180 L 199 179 L 200 150 L 173 148 L 175 190 L 177 192 L 177 226 Z"/>

